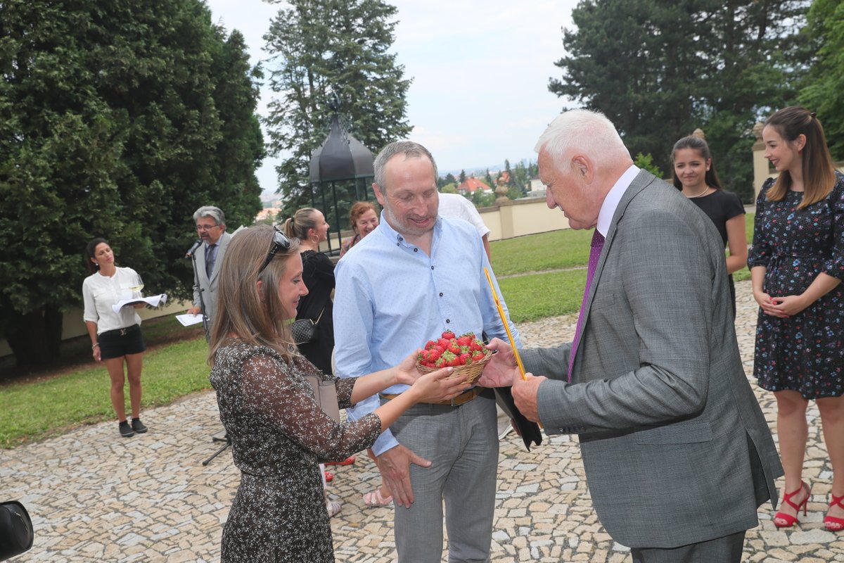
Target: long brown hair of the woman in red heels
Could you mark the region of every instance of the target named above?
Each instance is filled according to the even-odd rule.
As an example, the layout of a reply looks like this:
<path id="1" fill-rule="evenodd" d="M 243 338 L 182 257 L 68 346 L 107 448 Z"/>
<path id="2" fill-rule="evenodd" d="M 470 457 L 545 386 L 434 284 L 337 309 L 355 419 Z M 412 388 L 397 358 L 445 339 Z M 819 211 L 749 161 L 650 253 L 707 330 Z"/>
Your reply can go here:
<path id="1" fill-rule="evenodd" d="M 773 127 L 789 143 L 793 143 L 800 135 L 806 136 L 806 144 L 799 152 L 803 168 L 803 201 L 797 208 L 809 207 L 830 195 L 836 184 L 836 167 L 832 164 L 832 155 L 826 146 L 824 127 L 814 113 L 799 106 L 790 106 L 768 117 L 765 127 Z M 782 201 L 791 187 L 791 174 L 782 171 L 774 185 L 765 192 L 765 197 L 773 202 Z"/>

